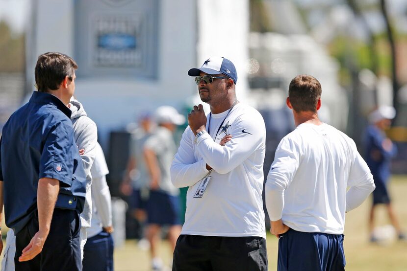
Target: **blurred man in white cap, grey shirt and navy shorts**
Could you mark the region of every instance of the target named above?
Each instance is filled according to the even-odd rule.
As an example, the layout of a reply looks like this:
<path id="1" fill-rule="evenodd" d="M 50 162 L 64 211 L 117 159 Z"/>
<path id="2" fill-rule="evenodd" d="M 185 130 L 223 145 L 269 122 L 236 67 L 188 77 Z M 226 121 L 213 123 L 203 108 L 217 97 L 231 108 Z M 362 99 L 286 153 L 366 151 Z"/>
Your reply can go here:
<path id="1" fill-rule="evenodd" d="M 168 239 L 174 250 L 181 231 L 179 189 L 170 180 L 170 166 L 177 151 L 173 133 L 185 117 L 171 106 L 157 108 L 153 115 L 158 127 L 144 144 L 144 157 L 150 174 L 150 197 L 147 201 L 147 238 L 150 241 L 153 270 L 161 270 L 157 255 L 161 226 L 169 226 Z"/>

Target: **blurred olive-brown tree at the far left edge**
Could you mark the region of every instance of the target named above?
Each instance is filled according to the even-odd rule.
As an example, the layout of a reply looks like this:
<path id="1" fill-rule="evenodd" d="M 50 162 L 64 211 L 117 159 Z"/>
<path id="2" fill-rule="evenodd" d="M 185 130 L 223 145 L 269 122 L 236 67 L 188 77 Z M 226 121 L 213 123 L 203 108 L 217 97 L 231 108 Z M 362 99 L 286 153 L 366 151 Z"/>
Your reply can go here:
<path id="1" fill-rule="evenodd" d="M 0 21 L 0 72 L 22 72 L 25 63 L 24 34 L 14 35 L 4 21 Z"/>

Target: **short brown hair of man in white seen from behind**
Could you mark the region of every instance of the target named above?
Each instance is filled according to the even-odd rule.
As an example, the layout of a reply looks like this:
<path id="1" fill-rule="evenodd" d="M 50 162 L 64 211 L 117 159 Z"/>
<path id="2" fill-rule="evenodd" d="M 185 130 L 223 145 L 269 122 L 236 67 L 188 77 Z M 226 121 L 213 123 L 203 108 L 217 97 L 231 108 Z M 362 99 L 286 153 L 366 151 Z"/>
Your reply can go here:
<path id="1" fill-rule="evenodd" d="M 315 77 L 302 74 L 291 80 L 288 88 L 290 103 L 296 112 L 317 112 L 318 99 L 321 98 L 321 84 Z"/>

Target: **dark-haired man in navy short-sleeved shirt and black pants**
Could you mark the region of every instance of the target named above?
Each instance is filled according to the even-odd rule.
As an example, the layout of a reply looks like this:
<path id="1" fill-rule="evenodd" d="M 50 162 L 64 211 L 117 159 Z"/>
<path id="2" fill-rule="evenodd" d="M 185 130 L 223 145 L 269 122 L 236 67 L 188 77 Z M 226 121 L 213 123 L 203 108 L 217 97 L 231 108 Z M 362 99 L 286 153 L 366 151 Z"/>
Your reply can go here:
<path id="1" fill-rule="evenodd" d="M 3 127 L 0 204 L 4 195 L 5 222 L 16 234 L 16 271 L 82 268 L 79 213 L 86 175 L 66 106 L 76 68 L 67 55 L 41 55 L 38 91 Z"/>

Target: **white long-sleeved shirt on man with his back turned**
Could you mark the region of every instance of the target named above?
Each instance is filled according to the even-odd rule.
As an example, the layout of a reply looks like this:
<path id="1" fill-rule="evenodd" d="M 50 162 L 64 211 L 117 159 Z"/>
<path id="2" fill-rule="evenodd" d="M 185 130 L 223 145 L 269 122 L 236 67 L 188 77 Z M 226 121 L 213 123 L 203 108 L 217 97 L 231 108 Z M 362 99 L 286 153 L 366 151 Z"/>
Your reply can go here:
<path id="1" fill-rule="evenodd" d="M 328 124 L 303 123 L 276 150 L 265 186 L 271 221 L 303 232 L 342 234 L 345 212 L 374 190 L 355 142 Z"/>

